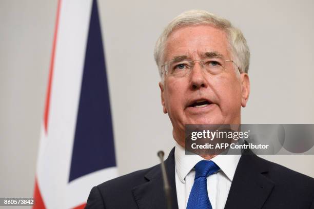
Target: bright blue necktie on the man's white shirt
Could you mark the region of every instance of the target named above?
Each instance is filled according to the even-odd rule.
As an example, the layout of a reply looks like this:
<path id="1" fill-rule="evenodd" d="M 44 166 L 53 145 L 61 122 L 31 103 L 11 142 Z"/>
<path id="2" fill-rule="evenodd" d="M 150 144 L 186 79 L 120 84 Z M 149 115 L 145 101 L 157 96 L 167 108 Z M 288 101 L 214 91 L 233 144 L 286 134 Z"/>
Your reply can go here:
<path id="1" fill-rule="evenodd" d="M 195 165 L 195 178 L 187 209 L 212 209 L 207 193 L 206 178 L 217 171 L 219 171 L 219 166 L 213 161 L 202 160 Z"/>

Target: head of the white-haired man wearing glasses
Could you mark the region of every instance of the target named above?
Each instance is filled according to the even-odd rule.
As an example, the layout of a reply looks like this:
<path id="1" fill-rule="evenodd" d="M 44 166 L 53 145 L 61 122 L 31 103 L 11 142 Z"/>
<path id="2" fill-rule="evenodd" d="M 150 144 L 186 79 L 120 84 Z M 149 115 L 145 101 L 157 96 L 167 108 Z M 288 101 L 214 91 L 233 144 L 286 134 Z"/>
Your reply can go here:
<path id="1" fill-rule="evenodd" d="M 185 124 L 239 124 L 249 96 L 249 49 L 237 28 L 206 11 L 174 18 L 154 51 L 164 113 L 184 145 Z"/>

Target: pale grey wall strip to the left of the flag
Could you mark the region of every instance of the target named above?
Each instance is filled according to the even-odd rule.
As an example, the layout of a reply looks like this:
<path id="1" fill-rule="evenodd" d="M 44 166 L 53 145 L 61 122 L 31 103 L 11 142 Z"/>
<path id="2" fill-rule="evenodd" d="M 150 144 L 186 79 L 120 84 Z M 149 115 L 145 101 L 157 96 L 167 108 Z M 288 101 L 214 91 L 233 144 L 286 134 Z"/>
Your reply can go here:
<path id="1" fill-rule="evenodd" d="M 2 198 L 33 194 L 55 11 L 56 1 L 0 1 Z"/>

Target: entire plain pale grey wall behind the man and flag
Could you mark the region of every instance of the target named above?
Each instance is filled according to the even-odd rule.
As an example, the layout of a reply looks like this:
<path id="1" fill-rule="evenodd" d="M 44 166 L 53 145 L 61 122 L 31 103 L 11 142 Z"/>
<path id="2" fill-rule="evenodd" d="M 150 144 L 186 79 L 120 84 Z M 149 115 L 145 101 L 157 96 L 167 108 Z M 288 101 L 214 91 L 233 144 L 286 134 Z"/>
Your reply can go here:
<path id="1" fill-rule="evenodd" d="M 56 0 L 0 1 L 0 197 L 32 197 Z M 158 163 L 174 145 L 162 113 L 156 39 L 188 9 L 242 29 L 251 94 L 242 123 L 314 123 L 314 2 L 99 1 L 119 174 Z M 314 156 L 262 156 L 314 177 Z"/>

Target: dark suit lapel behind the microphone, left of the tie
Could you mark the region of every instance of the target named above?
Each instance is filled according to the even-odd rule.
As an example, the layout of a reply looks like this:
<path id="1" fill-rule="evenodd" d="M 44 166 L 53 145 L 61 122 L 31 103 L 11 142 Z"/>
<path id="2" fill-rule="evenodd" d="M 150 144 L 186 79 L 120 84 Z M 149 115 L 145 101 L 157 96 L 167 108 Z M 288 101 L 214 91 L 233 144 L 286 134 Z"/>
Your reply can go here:
<path id="1" fill-rule="evenodd" d="M 174 148 L 165 160 L 165 168 L 167 170 L 169 185 L 172 189 L 172 209 L 177 209 L 178 200 L 175 190 Z M 167 209 L 160 164 L 154 166 L 153 169 L 145 175 L 145 178 L 147 180 L 146 183 L 136 186 L 132 190 L 138 207 L 140 209 Z"/>

